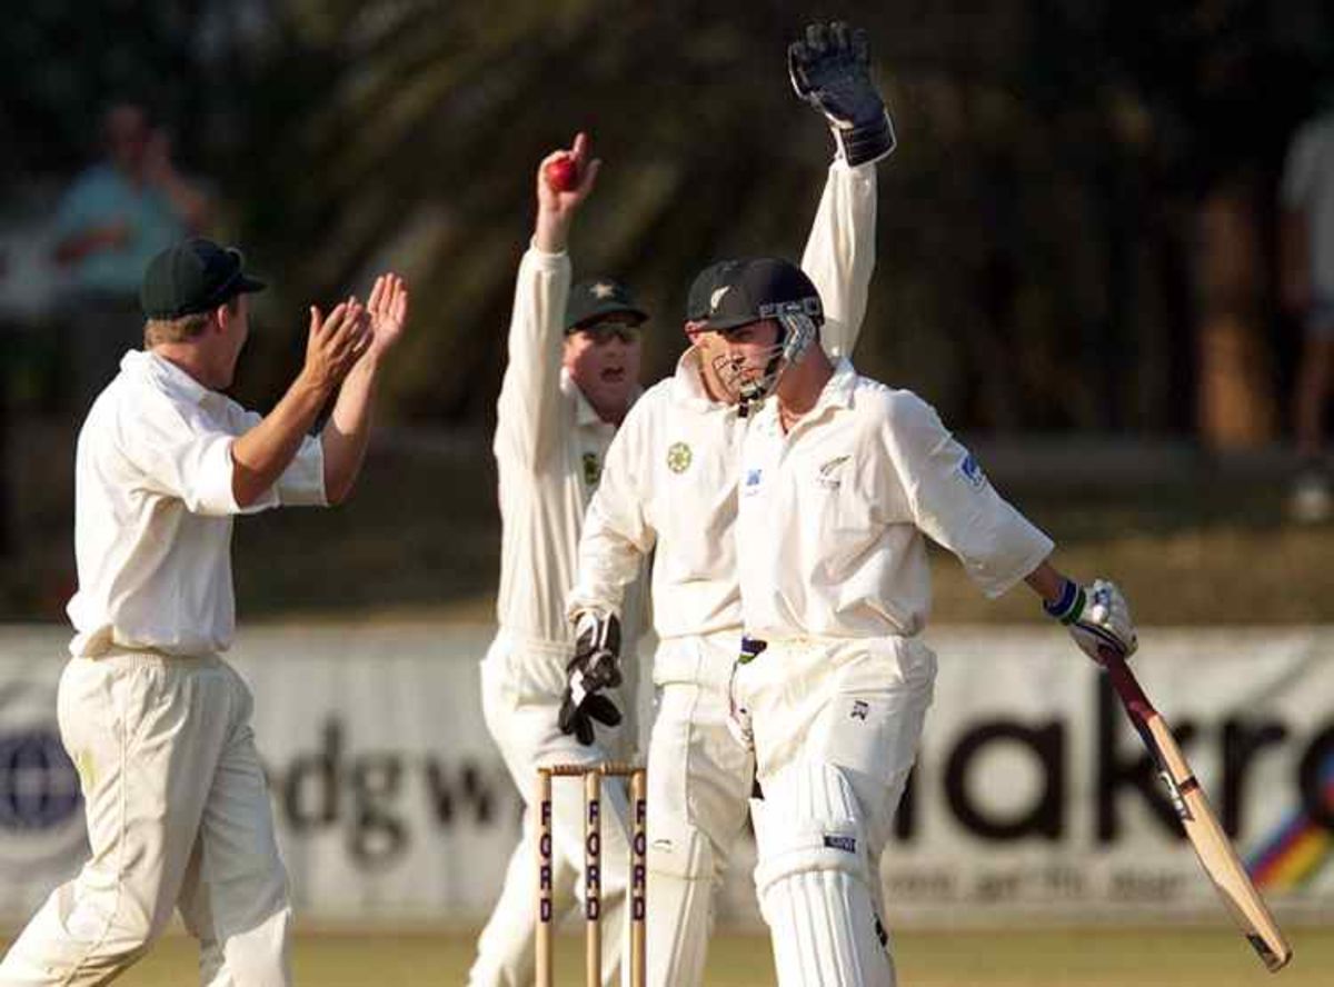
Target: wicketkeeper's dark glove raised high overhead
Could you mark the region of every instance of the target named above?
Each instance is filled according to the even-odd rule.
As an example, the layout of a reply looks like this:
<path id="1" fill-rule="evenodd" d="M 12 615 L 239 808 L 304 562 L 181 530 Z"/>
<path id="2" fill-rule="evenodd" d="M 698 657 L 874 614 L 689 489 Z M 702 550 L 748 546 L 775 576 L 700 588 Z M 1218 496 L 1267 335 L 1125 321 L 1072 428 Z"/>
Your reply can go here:
<path id="1" fill-rule="evenodd" d="M 787 47 L 796 95 L 824 113 L 843 160 L 878 161 L 894 151 L 894 121 L 871 81 L 866 32 L 843 21 L 811 24 Z"/>

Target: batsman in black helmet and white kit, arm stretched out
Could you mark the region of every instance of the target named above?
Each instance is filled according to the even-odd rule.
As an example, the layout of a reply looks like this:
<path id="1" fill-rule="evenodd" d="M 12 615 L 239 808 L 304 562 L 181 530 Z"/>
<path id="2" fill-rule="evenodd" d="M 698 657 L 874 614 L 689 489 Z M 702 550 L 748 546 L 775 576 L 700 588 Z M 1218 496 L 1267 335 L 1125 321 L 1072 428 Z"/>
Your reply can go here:
<path id="1" fill-rule="evenodd" d="M 755 751 L 755 888 L 784 987 L 894 983 L 879 860 L 935 679 L 922 642 L 926 538 L 988 596 L 1021 580 L 1097 659 L 1135 634 L 1121 592 L 1085 591 L 908 391 L 830 360 L 815 285 L 792 264 L 730 272 L 710 325 L 743 404 L 736 551 L 746 639 L 732 680 Z M 772 395 L 772 400 L 764 400 Z"/>

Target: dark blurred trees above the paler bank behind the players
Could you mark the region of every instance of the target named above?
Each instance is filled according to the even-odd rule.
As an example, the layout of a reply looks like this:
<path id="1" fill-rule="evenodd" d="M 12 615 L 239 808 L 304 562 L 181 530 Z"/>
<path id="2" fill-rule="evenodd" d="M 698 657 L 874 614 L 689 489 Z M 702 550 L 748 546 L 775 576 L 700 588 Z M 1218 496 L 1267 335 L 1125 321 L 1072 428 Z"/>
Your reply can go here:
<path id="1" fill-rule="evenodd" d="M 418 321 L 391 413 L 484 424 L 534 167 L 576 129 L 606 161 L 576 271 L 655 313 L 648 379 L 699 267 L 800 252 L 831 144 L 783 52 L 812 17 L 870 32 L 900 136 L 860 368 L 964 428 L 1190 432 L 1202 209 L 1253 209 L 1273 313 L 1277 173 L 1329 81 L 1314 0 L 48 0 L 0 33 L 0 175 L 73 173 L 144 101 L 275 281 L 243 399 L 279 393 L 308 301 L 392 264 Z"/>

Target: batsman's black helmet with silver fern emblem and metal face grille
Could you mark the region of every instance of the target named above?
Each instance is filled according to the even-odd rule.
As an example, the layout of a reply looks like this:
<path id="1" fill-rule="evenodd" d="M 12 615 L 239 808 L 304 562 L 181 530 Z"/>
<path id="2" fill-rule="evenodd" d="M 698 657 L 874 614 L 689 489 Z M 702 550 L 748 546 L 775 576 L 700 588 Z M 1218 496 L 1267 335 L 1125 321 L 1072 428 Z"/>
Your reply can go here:
<path id="1" fill-rule="evenodd" d="M 763 353 L 760 372 L 738 381 L 742 416 L 771 395 L 783 372 L 800 361 L 819 335 L 824 309 L 811 279 L 796 264 L 758 257 L 730 268 L 710 296 L 708 328 L 727 332 L 767 319 L 778 323 L 778 336 Z"/>

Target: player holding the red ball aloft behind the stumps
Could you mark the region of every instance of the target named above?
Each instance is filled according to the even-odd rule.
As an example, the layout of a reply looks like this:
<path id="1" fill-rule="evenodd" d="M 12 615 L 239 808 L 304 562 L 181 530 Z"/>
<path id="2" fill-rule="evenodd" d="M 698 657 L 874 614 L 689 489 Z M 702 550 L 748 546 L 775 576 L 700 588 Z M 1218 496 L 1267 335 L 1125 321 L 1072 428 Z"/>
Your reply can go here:
<path id="1" fill-rule="evenodd" d="M 495 456 L 500 472 L 499 631 L 482 662 L 482 708 L 487 728 L 524 800 L 531 802 L 539 764 L 627 760 L 632 731 L 595 728 L 592 719 L 618 719 L 599 706 L 568 720 L 579 739 L 558 726 L 566 666 L 576 636 L 566 620 L 566 594 L 574 584 L 575 552 L 588 499 L 603 457 L 639 392 L 639 332 L 646 315 L 616 281 L 600 277 L 570 284 L 566 244 L 570 225 L 592 191 L 599 163 L 588 140 L 568 152 L 579 185 L 558 192 L 538 168 L 538 220 L 532 244 L 519 264 L 510 361 L 500 388 Z M 643 618 L 627 608 L 623 635 L 634 647 Z M 599 628 L 606 632 L 606 627 Z M 587 644 L 587 639 L 583 642 Z M 619 692 L 612 695 L 619 698 Z M 634 683 L 626 683 L 634 695 Z M 626 708 L 622 704 L 622 708 Z M 580 743 L 583 740 L 584 743 Z M 586 746 L 588 744 L 588 746 Z M 618 934 L 603 936 L 603 976 L 619 976 L 628 927 L 630 843 L 624 787 L 607 779 L 603 798 L 603 922 Z M 531 812 L 510 860 L 504 888 L 478 940 L 472 984 L 532 983 L 536 846 Z M 583 795 L 576 783 L 556 783 L 554 898 L 558 914 L 583 888 Z"/>

